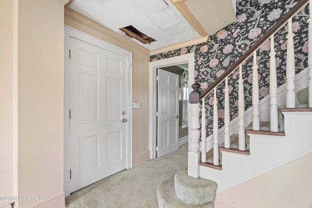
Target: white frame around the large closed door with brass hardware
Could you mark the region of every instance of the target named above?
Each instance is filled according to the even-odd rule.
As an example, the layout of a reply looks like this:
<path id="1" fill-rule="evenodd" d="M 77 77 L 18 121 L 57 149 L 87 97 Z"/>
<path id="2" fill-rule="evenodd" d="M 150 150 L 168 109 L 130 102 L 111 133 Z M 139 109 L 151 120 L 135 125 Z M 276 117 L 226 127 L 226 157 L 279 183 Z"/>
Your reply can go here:
<path id="1" fill-rule="evenodd" d="M 127 169 L 132 168 L 132 53 L 99 38 L 83 33 L 75 28 L 64 25 L 64 192 L 70 195 L 70 131 L 69 131 L 69 38 L 76 38 L 86 43 L 95 44 L 105 50 L 127 58 Z"/>

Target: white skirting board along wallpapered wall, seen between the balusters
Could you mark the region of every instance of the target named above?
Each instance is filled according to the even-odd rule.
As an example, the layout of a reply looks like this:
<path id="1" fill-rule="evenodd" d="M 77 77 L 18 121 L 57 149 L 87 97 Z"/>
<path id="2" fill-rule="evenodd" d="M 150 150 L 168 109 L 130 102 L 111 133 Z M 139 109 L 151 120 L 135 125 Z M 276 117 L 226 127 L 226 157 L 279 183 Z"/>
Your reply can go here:
<path id="1" fill-rule="evenodd" d="M 305 68 L 295 76 L 295 93 L 299 90 L 308 87 L 309 84 L 309 68 Z M 282 84 L 277 89 L 277 103 L 278 106 L 286 106 L 286 94 L 287 94 L 287 83 Z M 299 102 L 296 99 L 296 105 Z M 265 96 L 259 102 L 259 112 L 261 121 L 270 120 L 270 95 Z M 253 107 L 245 111 L 245 128 L 253 121 Z M 230 134 L 238 133 L 238 116 L 230 122 Z M 219 145 L 224 142 L 224 126 L 219 129 Z M 214 135 L 211 134 L 206 138 L 206 151 L 213 148 Z M 200 144 L 201 147 L 201 144 Z M 201 151 L 201 149 L 200 149 Z"/>

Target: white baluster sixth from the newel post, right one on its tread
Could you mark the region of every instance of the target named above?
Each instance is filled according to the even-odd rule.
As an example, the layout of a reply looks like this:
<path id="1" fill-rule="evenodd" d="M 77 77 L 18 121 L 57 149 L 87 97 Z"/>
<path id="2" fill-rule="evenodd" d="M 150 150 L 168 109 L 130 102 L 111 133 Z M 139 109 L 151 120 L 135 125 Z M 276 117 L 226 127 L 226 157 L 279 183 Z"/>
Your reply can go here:
<path id="1" fill-rule="evenodd" d="M 276 78 L 276 60 L 274 50 L 274 36 L 271 36 L 270 52 L 270 131 L 278 132 L 278 110 L 277 110 L 277 78 Z"/>

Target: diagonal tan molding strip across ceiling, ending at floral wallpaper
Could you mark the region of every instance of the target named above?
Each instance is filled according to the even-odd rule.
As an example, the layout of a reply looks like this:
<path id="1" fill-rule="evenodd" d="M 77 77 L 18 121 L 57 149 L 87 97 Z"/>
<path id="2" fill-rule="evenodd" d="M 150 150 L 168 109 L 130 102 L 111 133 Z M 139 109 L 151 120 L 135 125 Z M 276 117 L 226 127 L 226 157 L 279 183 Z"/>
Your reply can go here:
<path id="1" fill-rule="evenodd" d="M 191 26 L 195 29 L 195 31 L 201 36 L 206 37 L 209 34 L 205 31 L 205 29 L 200 25 L 200 23 L 195 19 L 192 13 L 188 10 L 188 8 L 184 5 L 183 0 L 170 0 L 176 9 L 181 13 L 181 15 L 191 24 Z"/>

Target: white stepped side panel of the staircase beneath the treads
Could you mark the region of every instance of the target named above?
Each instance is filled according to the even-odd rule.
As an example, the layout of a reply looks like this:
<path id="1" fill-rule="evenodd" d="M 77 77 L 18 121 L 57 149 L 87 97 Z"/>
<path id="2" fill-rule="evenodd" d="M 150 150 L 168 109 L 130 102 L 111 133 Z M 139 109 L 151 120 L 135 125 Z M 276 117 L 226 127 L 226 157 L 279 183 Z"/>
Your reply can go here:
<path id="1" fill-rule="evenodd" d="M 312 112 L 284 112 L 285 136 L 250 135 L 250 155 L 222 151 L 222 170 L 200 166 L 200 177 L 218 184 L 217 193 L 312 152 Z"/>

